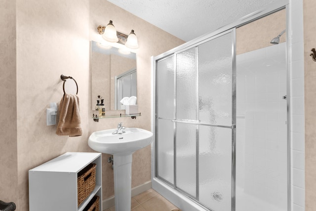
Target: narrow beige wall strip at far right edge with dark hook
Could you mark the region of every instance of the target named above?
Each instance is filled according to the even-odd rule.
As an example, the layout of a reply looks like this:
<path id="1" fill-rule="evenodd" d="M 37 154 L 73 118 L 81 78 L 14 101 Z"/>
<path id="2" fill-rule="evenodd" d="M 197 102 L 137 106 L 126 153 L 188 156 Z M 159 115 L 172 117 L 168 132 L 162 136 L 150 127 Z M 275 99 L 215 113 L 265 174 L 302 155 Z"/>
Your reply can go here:
<path id="1" fill-rule="evenodd" d="M 303 0 L 305 66 L 305 206 L 316 209 L 316 62 L 311 49 L 316 48 L 316 1 Z"/>

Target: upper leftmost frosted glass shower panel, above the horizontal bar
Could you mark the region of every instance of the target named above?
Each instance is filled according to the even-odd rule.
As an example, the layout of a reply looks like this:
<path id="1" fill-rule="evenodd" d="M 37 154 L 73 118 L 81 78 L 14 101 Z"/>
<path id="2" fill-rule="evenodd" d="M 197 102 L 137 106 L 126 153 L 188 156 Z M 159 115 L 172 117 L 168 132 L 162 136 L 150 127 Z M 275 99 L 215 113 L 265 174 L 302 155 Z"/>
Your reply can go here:
<path id="1" fill-rule="evenodd" d="M 157 62 L 156 82 L 157 116 L 171 120 L 174 116 L 174 56 Z"/>

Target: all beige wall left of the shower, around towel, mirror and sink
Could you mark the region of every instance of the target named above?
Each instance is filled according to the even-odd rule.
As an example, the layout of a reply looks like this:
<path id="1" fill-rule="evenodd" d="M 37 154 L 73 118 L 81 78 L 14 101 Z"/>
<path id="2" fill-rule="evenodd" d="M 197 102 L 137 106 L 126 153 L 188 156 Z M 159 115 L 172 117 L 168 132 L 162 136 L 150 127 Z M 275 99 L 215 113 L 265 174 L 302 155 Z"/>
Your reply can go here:
<path id="1" fill-rule="evenodd" d="M 116 127 L 118 122 L 150 130 L 150 56 L 183 41 L 107 0 L 2 0 L 0 17 L 0 200 L 14 201 L 17 211 L 28 211 L 29 169 L 67 151 L 91 152 L 87 145 L 91 132 Z M 95 123 L 90 117 L 89 41 L 96 38 L 96 24 L 106 25 L 110 19 L 125 34 L 134 29 L 139 39 L 142 116 Z M 56 126 L 46 126 L 46 108 L 50 102 L 59 103 L 63 95 L 61 74 L 74 77 L 79 85 L 83 129 L 79 137 L 57 136 Z M 107 158 L 103 155 L 104 199 L 114 194 Z M 150 147 L 134 154 L 133 187 L 150 180 L 150 160 Z"/>

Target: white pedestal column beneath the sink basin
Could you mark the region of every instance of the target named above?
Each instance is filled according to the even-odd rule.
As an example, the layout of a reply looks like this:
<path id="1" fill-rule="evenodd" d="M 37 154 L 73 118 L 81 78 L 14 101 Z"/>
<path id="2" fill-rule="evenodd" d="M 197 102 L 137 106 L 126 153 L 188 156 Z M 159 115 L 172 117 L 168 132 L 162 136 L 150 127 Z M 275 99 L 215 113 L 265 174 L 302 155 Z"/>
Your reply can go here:
<path id="1" fill-rule="evenodd" d="M 115 211 L 130 211 L 132 154 L 113 155 Z"/>

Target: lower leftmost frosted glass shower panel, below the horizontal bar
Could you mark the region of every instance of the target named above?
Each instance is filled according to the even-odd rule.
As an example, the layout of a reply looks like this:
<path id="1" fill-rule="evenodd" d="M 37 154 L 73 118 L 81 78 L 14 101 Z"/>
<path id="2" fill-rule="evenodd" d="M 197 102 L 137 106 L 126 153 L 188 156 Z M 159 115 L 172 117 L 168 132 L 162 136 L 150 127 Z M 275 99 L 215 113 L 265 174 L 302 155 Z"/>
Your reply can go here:
<path id="1" fill-rule="evenodd" d="M 158 169 L 157 175 L 162 179 L 173 184 L 173 125 L 174 123 L 170 120 L 158 119 L 158 139 L 157 145 L 157 157 L 158 158 Z"/>

